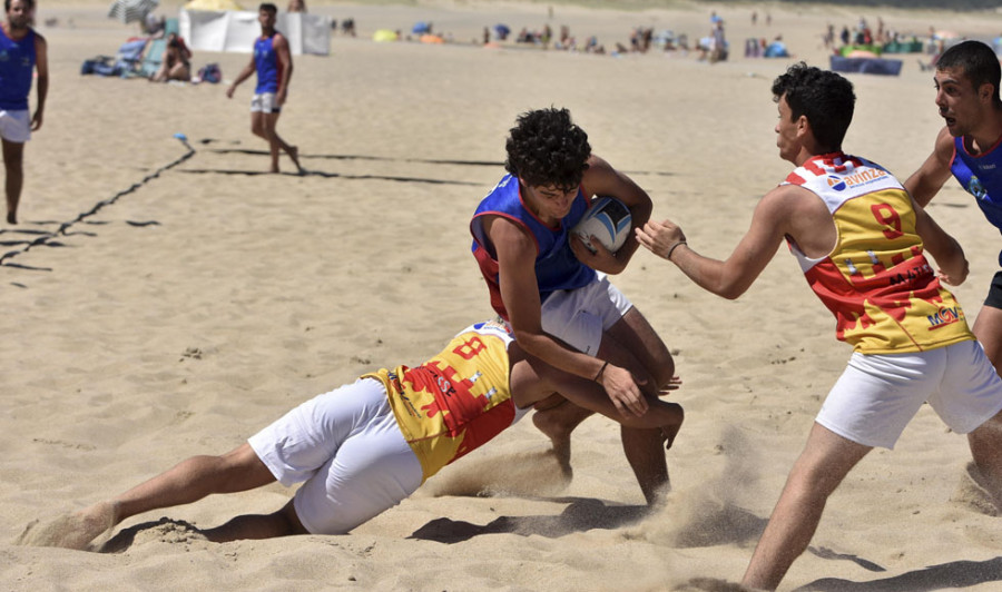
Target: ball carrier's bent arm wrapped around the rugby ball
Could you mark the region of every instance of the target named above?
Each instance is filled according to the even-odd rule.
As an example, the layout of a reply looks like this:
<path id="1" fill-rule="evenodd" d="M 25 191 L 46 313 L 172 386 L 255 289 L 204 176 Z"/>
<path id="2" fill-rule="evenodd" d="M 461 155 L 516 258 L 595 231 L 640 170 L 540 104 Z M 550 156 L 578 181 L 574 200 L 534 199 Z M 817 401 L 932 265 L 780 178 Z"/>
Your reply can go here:
<path id="1" fill-rule="evenodd" d="M 615 197 L 622 201 L 623 205 L 630 209 L 633 229 L 640 228 L 647 224 L 647 220 L 650 219 L 650 211 L 652 209 L 650 197 L 647 193 L 633 182 L 632 179 L 616 170 L 609 162 L 595 155 L 588 159 L 588 169 L 584 171 L 584 176 L 581 179 L 581 186 L 583 187 L 586 195 L 589 197 Z M 592 244 L 596 244 L 596 241 L 592 241 Z M 627 264 L 630 263 L 630 258 L 632 258 L 633 253 L 637 251 L 637 247 L 639 246 L 640 244 L 637 241 L 632 231 L 627 237 L 627 241 L 616 251 L 616 254 L 610 253 L 601 244 L 596 245 L 598 253 L 592 254 L 584 247 L 579 238 L 573 237 L 571 239 L 571 249 L 573 249 L 574 255 L 581 263 L 592 269 L 612 275 L 619 274 L 626 269 Z"/>

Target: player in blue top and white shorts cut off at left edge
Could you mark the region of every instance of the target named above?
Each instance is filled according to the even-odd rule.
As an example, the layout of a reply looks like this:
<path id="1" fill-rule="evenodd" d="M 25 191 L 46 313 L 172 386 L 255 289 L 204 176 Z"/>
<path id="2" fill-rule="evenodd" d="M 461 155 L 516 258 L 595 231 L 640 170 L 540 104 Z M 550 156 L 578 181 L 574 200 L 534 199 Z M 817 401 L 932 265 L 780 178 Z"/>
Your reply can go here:
<path id="1" fill-rule="evenodd" d="M 7 223 L 18 224 L 24 185 L 24 142 L 41 129 L 49 92 L 46 39 L 30 27 L 35 0 L 3 0 L 7 20 L 0 22 L 0 141 L 3 144 Z M 29 116 L 31 79 L 38 71 L 35 115 Z"/>

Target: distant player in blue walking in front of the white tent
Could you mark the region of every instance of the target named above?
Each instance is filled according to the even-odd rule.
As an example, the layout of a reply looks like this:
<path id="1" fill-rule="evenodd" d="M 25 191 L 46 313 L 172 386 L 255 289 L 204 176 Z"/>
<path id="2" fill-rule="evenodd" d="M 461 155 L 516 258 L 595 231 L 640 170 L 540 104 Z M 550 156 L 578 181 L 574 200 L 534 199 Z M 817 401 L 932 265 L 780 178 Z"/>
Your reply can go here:
<path id="1" fill-rule="evenodd" d="M 278 172 L 278 154 L 283 150 L 302 172 L 299 150 L 286 144 L 275 129 L 282 106 L 288 98 L 288 81 L 292 79 L 293 70 L 288 40 L 275 29 L 277 14 L 278 8 L 273 3 L 264 2 L 258 8 L 257 22 L 261 23 L 261 37 L 254 42 L 250 62 L 226 89 L 226 96 L 232 99 L 237 85 L 257 72 L 257 87 L 254 89 L 254 98 L 250 99 L 250 131 L 267 140 L 272 152 L 269 169 L 272 172 Z"/>

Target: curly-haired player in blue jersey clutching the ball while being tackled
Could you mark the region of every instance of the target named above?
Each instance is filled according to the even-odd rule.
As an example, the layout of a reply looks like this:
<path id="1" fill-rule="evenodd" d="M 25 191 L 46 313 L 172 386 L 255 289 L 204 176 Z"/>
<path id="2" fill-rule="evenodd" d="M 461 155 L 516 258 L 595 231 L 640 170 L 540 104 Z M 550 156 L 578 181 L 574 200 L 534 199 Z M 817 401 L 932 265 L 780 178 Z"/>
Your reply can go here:
<path id="1" fill-rule="evenodd" d="M 635 227 L 650 216 L 650 197 L 591 154 L 588 135 L 567 109 L 520 115 L 507 151 L 509 174 L 470 223 L 491 306 L 522 349 L 601 384 L 617 408 L 642 415 L 642 392 L 657 396 L 672 381 L 675 364 L 644 315 L 606 277 L 626 268 L 637 240 L 631 234 L 617 253 L 592 240 L 598 250 L 591 253 L 571 229 L 592 196 L 622 201 Z M 568 473 L 570 434 L 590 414 L 559 395 L 537 406 L 533 423 L 553 442 Z M 625 426 L 621 437 L 650 502 L 668 482 L 660 435 Z"/>

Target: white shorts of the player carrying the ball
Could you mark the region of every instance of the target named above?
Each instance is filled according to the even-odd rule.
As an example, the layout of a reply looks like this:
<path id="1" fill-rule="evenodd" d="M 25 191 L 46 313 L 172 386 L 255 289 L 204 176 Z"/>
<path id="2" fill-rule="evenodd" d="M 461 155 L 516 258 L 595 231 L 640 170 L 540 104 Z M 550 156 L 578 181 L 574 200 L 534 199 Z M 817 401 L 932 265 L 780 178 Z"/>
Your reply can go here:
<path id="1" fill-rule="evenodd" d="M 606 274 L 599 274 L 597 280 L 582 288 L 551 294 L 540 310 L 542 328 L 574 349 L 593 356 L 602 344 L 602 333 L 632 306 Z"/>

